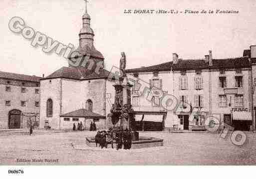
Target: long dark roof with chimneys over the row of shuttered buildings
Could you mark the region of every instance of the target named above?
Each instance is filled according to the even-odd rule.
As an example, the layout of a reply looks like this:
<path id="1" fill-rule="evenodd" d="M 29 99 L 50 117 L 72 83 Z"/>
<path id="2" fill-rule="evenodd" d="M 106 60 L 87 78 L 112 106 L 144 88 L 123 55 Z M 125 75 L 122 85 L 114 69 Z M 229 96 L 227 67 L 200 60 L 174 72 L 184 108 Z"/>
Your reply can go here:
<path id="1" fill-rule="evenodd" d="M 154 71 L 170 71 L 173 70 L 189 70 L 189 69 L 209 69 L 209 68 L 243 68 L 250 67 L 251 62 L 248 56 L 238 58 L 213 59 L 213 66 L 205 61 L 205 59 L 180 59 L 176 64 L 172 61 L 153 65 L 148 67 L 127 69 L 127 73 L 136 72 L 154 72 Z"/>

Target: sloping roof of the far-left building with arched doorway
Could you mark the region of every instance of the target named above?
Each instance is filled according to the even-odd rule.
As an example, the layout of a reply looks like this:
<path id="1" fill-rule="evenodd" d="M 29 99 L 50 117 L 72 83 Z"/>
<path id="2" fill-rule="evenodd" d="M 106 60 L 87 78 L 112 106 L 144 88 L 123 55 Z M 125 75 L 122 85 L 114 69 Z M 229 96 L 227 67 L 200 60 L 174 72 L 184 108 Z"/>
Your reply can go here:
<path id="1" fill-rule="evenodd" d="M 0 78 L 40 82 L 41 77 L 0 71 Z"/>

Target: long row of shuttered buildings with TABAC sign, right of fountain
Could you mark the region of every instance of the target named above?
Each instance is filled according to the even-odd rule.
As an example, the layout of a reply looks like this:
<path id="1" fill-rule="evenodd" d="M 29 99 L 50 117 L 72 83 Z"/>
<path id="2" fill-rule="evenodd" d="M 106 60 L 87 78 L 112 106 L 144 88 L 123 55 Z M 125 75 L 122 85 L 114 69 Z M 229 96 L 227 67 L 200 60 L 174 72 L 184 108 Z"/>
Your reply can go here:
<path id="1" fill-rule="evenodd" d="M 170 62 L 128 69 L 136 84 L 132 104 L 137 110 L 166 111 L 166 119 L 159 121 L 165 129 L 205 130 L 207 119 L 214 117 L 220 125 L 249 130 L 256 83 L 251 51 L 253 55 L 249 50 L 242 57 L 227 59 L 214 59 L 211 50 L 202 59 L 181 59 L 174 53 Z M 168 95 L 175 103 L 172 109 L 164 104 Z"/>

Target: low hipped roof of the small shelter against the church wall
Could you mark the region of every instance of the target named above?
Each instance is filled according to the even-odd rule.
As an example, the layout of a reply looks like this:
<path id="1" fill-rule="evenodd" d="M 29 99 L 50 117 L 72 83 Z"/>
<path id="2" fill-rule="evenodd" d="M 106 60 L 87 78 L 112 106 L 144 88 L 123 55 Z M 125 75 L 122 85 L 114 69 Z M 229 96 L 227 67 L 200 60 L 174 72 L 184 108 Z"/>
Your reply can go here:
<path id="1" fill-rule="evenodd" d="M 88 111 L 86 109 L 78 109 L 70 113 L 62 114 L 60 117 L 87 117 L 87 118 L 105 118 L 100 114 Z"/>

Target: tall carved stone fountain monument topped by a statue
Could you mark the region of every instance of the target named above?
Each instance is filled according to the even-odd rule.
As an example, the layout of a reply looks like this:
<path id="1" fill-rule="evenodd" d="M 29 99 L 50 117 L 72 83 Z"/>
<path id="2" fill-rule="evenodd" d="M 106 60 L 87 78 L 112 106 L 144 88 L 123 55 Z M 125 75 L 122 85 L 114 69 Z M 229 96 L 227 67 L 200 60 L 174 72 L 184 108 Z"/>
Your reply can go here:
<path id="1" fill-rule="evenodd" d="M 131 85 L 128 82 L 126 73 L 126 57 L 125 53 L 121 53 L 120 59 L 120 76 L 113 85 L 115 88 L 115 102 L 112 104 L 109 117 L 111 117 L 111 123 L 113 129 L 128 129 L 132 133 L 132 149 L 149 148 L 163 146 L 163 139 L 155 137 L 140 136 L 136 131 L 135 125 L 135 112 L 131 105 Z M 95 138 L 86 137 L 86 145 L 89 147 L 95 147 Z M 114 145 L 116 145 L 114 143 Z"/>

